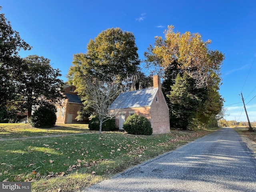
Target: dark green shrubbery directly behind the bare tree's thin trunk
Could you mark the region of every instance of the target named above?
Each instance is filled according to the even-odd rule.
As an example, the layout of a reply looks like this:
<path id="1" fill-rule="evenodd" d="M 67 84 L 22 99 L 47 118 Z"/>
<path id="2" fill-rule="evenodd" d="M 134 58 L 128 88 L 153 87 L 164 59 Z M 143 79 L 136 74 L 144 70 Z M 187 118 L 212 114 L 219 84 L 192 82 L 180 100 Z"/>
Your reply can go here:
<path id="1" fill-rule="evenodd" d="M 100 121 L 97 115 L 91 118 L 89 123 L 89 129 L 94 131 L 100 130 Z M 114 130 L 116 130 L 114 119 L 109 119 L 102 123 L 102 131 L 114 131 Z"/>

